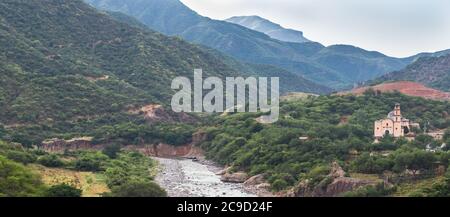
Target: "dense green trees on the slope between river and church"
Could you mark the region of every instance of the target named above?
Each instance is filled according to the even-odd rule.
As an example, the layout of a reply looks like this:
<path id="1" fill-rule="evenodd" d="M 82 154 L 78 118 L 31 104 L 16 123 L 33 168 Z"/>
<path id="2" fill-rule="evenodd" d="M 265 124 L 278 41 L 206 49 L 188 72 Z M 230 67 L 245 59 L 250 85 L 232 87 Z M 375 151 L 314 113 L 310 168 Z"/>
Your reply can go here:
<path id="1" fill-rule="evenodd" d="M 382 176 L 390 171 L 395 177 L 407 170 L 416 178 L 432 175 L 436 163 L 448 167 L 448 151 L 425 151 L 427 144 L 448 142 L 448 135 L 443 141 L 419 134 L 412 142 L 385 137 L 374 143 L 373 122 L 384 118 L 397 102 L 402 104 L 403 116 L 421 126 L 426 123 L 429 130 L 450 125 L 449 102 L 371 91 L 359 97 L 311 96 L 283 102 L 280 120 L 271 125 L 256 122 L 260 114 L 217 116 L 204 128 L 208 139 L 201 147 L 207 157 L 232 165 L 234 171 L 265 174 L 274 190 L 305 179 L 314 185 L 326 183 L 333 161 L 349 172 Z"/>

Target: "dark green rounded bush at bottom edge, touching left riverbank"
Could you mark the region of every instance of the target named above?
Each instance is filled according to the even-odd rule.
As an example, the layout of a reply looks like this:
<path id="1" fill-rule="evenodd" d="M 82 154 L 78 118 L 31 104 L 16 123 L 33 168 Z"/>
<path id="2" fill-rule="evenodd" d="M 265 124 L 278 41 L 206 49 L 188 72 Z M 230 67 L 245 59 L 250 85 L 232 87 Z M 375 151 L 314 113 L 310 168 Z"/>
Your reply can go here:
<path id="1" fill-rule="evenodd" d="M 166 197 L 167 193 L 154 182 L 131 181 L 111 189 L 112 197 Z"/>

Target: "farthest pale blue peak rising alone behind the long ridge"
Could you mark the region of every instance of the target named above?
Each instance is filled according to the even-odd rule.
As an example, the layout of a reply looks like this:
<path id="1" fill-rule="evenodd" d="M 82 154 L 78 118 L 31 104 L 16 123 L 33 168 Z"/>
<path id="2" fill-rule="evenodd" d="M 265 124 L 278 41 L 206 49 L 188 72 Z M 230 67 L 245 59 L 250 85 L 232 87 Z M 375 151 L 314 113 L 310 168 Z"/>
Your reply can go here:
<path id="1" fill-rule="evenodd" d="M 270 22 L 269 20 L 259 16 L 235 16 L 226 19 L 225 21 L 262 32 L 271 38 L 280 41 L 295 43 L 310 42 L 310 40 L 303 36 L 303 32 L 293 29 L 285 29 L 281 25 Z"/>

